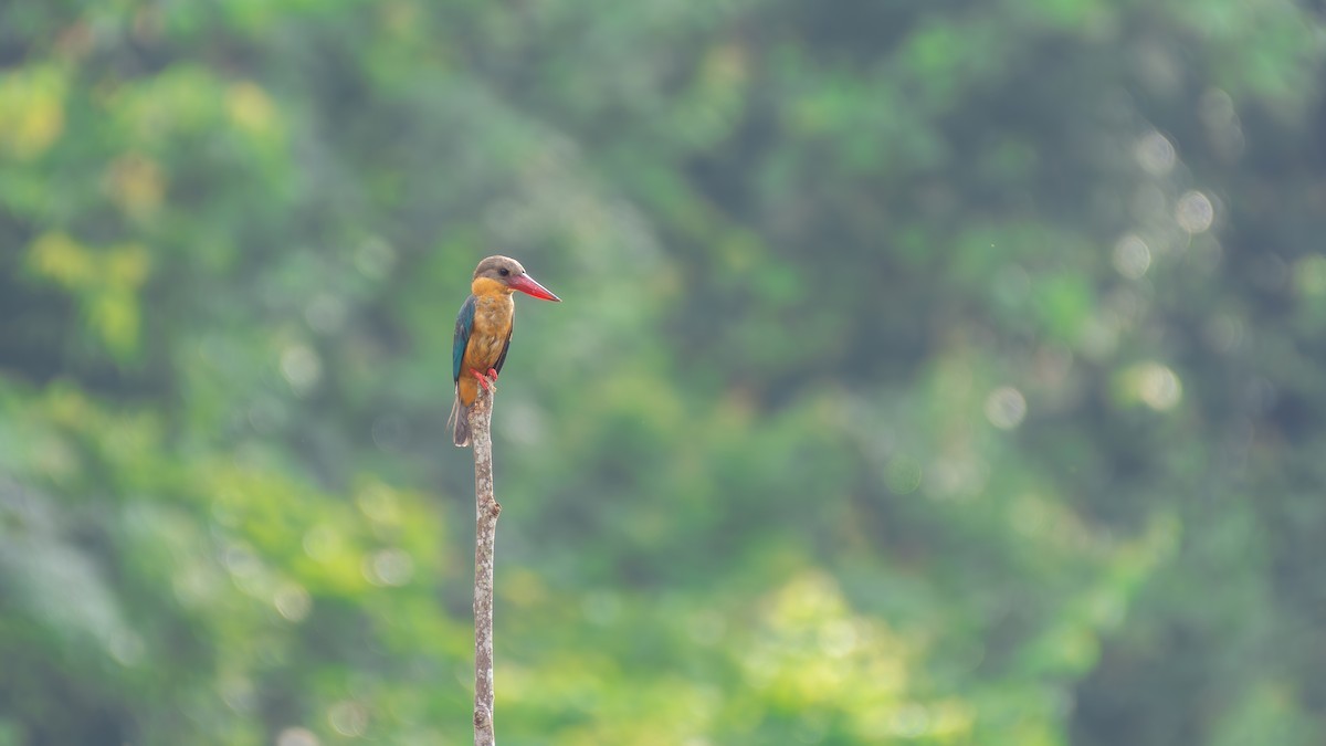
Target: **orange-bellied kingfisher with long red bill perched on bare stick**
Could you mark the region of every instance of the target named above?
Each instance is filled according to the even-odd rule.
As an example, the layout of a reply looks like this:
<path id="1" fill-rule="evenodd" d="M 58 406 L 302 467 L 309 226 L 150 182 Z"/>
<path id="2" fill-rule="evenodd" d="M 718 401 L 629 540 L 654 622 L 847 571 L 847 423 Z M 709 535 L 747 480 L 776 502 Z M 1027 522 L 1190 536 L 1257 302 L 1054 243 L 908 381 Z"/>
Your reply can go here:
<path id="1" fill-rule="evenodd" d="M 475 268 L 469 297 L 456 315 L 456 335 L 451 342 L 456 401 L 451 405 L 451 422 L 457 446 L 469 445 L 469 408 L 479 396 L 479 386 L 496 390 L 497 373 L 507 362 L 516 316 L 512 293 L 516 291 L 540 300 L 562 300 L 530 277 L 520 261 L 489 256 Z"/>

